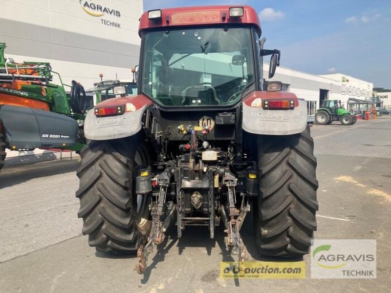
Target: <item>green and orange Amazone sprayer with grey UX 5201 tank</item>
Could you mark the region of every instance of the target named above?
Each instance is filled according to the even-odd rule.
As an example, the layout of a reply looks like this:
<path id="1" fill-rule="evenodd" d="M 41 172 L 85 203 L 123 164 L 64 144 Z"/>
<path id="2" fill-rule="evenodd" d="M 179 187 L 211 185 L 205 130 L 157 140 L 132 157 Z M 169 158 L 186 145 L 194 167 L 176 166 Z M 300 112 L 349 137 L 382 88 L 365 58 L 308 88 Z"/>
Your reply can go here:
<path id="1" fill-rule="evenodd" d="M 52 71 L 50 63 L 16 63 L 5 58 L 5 47 L 0 42 L 0 168 L 4 166 L 5 148 L 80 150 L 86 143 L 83 86 L 73 81 L 68 98 L 60 75 Z M 53 74 L 61 84 L 51 82 Z"/>

